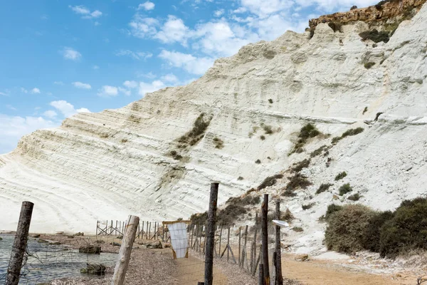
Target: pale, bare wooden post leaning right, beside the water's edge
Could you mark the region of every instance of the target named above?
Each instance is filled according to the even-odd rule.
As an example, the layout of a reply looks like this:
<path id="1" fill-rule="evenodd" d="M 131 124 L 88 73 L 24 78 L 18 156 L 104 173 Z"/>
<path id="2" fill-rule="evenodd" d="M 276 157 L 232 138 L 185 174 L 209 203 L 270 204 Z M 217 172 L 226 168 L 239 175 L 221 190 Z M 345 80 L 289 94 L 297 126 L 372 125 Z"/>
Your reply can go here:
<path id="1" fill-rule="evenodd" d="M 139 217 L 129 216 L 127 220 L 127 230 L 125 237 L 123 237 L 122 240 L 122 246 L 120 247 L 119 257 L 117 259 L 117 263 L 114 269 L 114 275 L 112 276 L 111 285 L 125 284 L 127 266 L 129 265 L 130 254 L 132 253 L 132 246 L 135 242 L 135 235 L 137 233 Z"/>

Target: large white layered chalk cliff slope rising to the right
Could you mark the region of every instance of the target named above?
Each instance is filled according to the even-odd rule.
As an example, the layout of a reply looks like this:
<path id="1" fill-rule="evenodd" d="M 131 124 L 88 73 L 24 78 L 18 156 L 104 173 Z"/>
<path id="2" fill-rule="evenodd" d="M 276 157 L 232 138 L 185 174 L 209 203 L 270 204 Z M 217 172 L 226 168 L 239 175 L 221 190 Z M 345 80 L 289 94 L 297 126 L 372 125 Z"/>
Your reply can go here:
<path id="1" fill-rule="evenodd" d="M 362 22 L 344 26 L 344 33 L 320 24 L 311 40 L 307 33 L 287 31 L 219 59 L 188 86 L 38 130 L 0 156 L 0 229 L 16 227 L 23 200 L 36 204 L 33 232 L 94 232 L 97 219 L 127 214 L 152 220 L 188 217 L 206 210 L 211 181 L 221 183 L 219 202 L 225 202 L 330 141 L 312 140 L 306 152 L 288 156 L 305 123 L 314 122 L 332 136 L 362 126 L 364 133 L 330 151 L 329 168 L 326 158 L 318 157 L 304 170 L 312 187 L 284 199 L 305 228 L 295 238 L 305 248 L 317 247 L 322 225 L 315 219 L 341 183 L 350 182 L 361 202 L 376 209 L 426 193 L 426 22 L 424 6 L 389 43 L 375 48 L 358 36 L 368 29 Z M 368 70 L 367 62 L 376 64 Z M 378 112 L 384 115 L 374 122 Z M 183 162 L 174 160 L 167 154 L 201 113 L 213 115 L 205 137 Z M 261 123 L 275 130 L 265 140 L 260 140 Z M 254 127 L 259 129 L 250 138 Z M 215 137 L 223 140 L 223 149 L 215 148 Z M 262 163 L 255 164 L 258 159 Z M 342 182 L 314 195 L 341 171 L 348 173 Z M 278 192 L 285 182 L 268 191 Z M 301 204 L 308 202 L 315 206 L 302 211 Z"/>

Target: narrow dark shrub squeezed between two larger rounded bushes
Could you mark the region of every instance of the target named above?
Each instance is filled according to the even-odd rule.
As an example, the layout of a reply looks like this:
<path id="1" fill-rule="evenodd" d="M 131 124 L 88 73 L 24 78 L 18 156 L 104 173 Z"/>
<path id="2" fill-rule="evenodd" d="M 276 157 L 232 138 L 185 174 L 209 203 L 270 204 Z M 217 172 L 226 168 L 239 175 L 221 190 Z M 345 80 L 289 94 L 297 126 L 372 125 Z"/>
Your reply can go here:
<path id="1" fill-rule="evenodd" d="M 393 212 L 377 212 L 371 218 L 362 235 L 362 246 L 371 252 L 379 252 L 381 227 L 393 217 Z"/>

